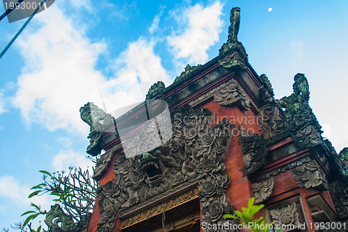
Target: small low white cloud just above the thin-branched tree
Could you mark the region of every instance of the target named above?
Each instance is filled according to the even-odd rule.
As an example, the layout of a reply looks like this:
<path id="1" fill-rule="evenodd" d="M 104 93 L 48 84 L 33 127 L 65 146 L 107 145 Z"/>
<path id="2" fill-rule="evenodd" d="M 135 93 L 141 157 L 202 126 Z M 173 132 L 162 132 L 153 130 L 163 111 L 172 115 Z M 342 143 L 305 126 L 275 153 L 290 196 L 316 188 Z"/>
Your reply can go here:
<path id="1" fill-rule="evenodd" d="M 81 167 L 82 170 L 86 170 L 94 164 L 84 154 L 68 149 L 60 151 L 58 155 L 54 156 L 52 166 L 57 171 L 68 171 L 69 167 Z"/>

